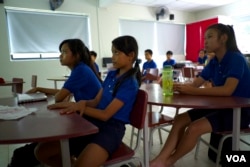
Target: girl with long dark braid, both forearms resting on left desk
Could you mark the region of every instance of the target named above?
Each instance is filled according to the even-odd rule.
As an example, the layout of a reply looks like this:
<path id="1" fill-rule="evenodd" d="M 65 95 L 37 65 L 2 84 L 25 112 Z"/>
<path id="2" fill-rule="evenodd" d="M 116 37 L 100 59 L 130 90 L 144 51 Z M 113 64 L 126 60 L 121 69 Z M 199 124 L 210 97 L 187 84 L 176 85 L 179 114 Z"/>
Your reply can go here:
<path id="1" fill-rule="evenodd" d="M 48 106 L 49 109 L 63 108 L 61 114 L 80 112 L 80 115 L 99 128 L 96 134 L 69 139 L 70 154 L 77 157 L 74 167 L 102 166 L 118 149 L 125 134 L 125 124 L 129 122 L 141 84 L 135 38 L 121 36 L 114 39 L 112 53 L 116 70 L 108 73 L 103 89 L 93 100 L 61 102 Z M 62 166 L 59 141 L 40 143 L 35 154 L 46 165 Z"/>

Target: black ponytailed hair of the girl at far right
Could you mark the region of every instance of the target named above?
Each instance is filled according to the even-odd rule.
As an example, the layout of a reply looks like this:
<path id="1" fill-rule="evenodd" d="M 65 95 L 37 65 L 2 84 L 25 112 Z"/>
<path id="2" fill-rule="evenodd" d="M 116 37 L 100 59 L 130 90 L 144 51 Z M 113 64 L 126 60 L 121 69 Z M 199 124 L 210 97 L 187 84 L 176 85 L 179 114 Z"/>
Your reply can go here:
<path id="1" fill-rule="evenodd" d="M 227 50 L 240 52 L 240 50 L 238 49 L 237 43 L 236 43 L 235 33 L 234 33 L 234 29 L 232 26 L 218 23 L 218 24 L 213 24 L 213 25 L 209 26 L 207 28 L 207 30 L 209 30 L 209 29 L 216 30 L 218 32 L 219 38 L 224 34 L 227 35 L 227 37 L 228 37 L 227 42 L 226 42 Z"/>

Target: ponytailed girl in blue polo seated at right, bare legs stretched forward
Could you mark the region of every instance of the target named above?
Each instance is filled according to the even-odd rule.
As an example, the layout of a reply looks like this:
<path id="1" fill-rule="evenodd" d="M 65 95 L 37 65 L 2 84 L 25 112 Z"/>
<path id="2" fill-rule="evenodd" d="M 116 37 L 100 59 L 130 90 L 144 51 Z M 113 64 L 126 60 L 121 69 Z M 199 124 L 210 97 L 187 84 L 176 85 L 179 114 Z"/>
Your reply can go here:
<path id="1" fill-rule="evenodd" d="M 205 47 L 215 57 L 191 84 L 176 84 L 183 94 L 205 96 L 239 96 L 250 98 L 250 71 L 239 51 L 232 26 L 214 24 L 205 32 Z M 237 65 L 236 65 L 237 64 Z M 239 68 L 240 67 L 240 68 Z M 213 87 L 199 88 L 206 80 Z M 205 133 L 232 131 L 233 109 L 192 109 L 175 117 L 163 149 L 150 167 L 170 167 L 196 145 Z M 241 128 L 248 128 L 250 108 L 241 110 Z"/>

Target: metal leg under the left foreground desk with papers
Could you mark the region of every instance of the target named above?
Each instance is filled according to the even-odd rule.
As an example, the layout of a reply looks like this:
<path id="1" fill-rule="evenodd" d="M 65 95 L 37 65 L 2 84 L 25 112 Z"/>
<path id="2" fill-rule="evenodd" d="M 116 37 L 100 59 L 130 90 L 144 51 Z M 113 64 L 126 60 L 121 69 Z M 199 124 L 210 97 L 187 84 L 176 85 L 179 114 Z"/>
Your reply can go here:
<path id="1" fill-rule="evenodd" d="M 71 166 L 70 153 L 69 153 L 69 142 L 68 139 L 60 140 L 62 150 L 62 165 L 63 167 Z"/>

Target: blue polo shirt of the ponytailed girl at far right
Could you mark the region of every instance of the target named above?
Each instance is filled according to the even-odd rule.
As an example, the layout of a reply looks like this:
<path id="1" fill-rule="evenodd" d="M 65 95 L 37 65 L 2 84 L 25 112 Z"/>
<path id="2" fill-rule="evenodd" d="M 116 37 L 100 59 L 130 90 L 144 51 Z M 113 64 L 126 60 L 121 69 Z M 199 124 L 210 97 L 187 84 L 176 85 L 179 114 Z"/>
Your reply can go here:
<path id="1" fill-rule="evenodd" d="M 228 77 L 236 78 L 239 83 L 232 96 L 250 98 L 250 70 L 240 52 L 228 51 L 221 62 L 214 57 L 202 70 L 201 77 L 211 80 L 215 86 L 224 85 Z"/>

